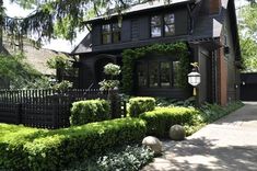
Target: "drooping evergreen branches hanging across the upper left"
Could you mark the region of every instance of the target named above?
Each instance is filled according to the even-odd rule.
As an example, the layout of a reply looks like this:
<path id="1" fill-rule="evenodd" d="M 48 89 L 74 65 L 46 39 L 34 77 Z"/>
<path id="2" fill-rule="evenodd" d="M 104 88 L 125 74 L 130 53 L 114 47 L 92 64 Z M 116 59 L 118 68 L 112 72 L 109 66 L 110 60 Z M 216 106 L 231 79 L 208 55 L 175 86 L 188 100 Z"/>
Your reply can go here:
<path id="1" fill-rule="evenodd" d="M 84 22 L 96 15 L 118 13 L 131 5 L 153 0 L 11 0 L 24 9 L 35 9 L 27 18 L 4 19 L 4 31 L 13 37 L 37 34 L 37 43 L 43 38 L 62 37 L 72 41 L 78 31 L 85 29 Z M 172 0 L 164 0 L 170 3 Z M 2 7 L 0 0 L 0 7 Z M 112 10 L 110 10 L 112 9 Z"/>

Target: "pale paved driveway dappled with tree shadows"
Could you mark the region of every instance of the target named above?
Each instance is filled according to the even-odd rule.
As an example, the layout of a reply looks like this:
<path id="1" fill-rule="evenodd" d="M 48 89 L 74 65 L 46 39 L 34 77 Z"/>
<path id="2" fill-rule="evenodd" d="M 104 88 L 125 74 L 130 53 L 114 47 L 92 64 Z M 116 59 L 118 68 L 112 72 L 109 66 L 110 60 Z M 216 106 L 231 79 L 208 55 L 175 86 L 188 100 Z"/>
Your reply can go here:
<path id="1" fill-rule="evenodd" d="M 184 141 L 163 144 L 164 155 L 143 171 L 257 171 L 257 102 L 246 103 Z"/>

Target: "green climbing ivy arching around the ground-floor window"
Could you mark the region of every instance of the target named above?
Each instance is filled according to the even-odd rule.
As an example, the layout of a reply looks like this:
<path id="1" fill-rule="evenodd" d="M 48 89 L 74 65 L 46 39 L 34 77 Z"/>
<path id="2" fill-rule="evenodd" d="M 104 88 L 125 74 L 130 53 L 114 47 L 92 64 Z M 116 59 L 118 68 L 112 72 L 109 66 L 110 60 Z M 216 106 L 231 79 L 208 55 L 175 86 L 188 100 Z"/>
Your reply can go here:
<path id="1" fill-rule="evenodd" d="M 187 88 L 187 75 L 189 70 L 190 59 L 188 56 L 188 47 L 186 43 L 178 42 L 174 44 L 154 44 L 147 47 L 136 49 L 126 49 L 122 52 L 122 91 L 131 94 L 133 90 L 133 78 L 136 70 L 136 60 L 145 57 L 148 54 L 176 56 L 178 66 L 178 84 L 179 88 Z"/>

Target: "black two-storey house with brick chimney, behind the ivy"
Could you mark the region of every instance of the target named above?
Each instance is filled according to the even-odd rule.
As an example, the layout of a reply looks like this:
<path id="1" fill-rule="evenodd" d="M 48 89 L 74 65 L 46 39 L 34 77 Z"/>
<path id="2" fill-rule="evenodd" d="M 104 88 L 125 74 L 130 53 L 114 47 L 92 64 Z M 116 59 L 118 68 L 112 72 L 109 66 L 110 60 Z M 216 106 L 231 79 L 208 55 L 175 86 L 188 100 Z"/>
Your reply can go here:
<path id="1" fill-rule="evenodd" d="M 185 42 L 188 58 L 199 64 L 199 102 L 225 105 L 240 98 L 241 52 L 234 0 L 157 1 L 132 7 L 125 11 L 121 23 L 119 19 L 113 14 L 86 22 L 92 30 L 72 52 L 80 56 L 81 88 L 97 87 L 107 62 L 122 65 L 125 49 Z M 176 54 L 171 56 L 152 55 L 137 62 L 135 95 L 191 96 L 191 89 L 176 87 Z"/>

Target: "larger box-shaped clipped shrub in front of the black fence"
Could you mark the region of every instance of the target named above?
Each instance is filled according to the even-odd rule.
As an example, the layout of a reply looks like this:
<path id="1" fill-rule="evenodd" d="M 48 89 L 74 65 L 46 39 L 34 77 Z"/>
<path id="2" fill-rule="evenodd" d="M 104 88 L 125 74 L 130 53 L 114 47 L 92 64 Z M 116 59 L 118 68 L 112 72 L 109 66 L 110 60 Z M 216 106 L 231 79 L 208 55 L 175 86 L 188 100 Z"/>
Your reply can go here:
<path id="1" fill-rule="evenodd" d="M 110 105 L 105 100 L 74 102 L 71 109 L 70 124 L 83 125 L 110 118 Z"/>

